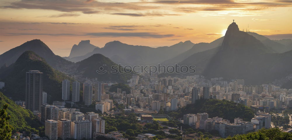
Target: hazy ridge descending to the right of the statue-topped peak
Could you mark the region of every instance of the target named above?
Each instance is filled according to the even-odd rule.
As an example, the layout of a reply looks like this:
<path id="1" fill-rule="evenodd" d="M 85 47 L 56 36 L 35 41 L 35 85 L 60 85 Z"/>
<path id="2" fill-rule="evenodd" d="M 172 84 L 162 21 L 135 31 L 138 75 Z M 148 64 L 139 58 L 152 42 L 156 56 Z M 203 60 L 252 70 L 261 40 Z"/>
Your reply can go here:
<path id="1" fill-rule="evenodd" d="M 283 52 L 290 51 L 292 49 L 292 46 L 291 48 L 289 48 L 284 44 L 281 44 L 275 40 L 270 40 L 269 38 L 259 35 L 257 33 L 254 33 L 254 32 L 246 32 L 246 33 L 254 36 L 257 40 L 260 40 L 260 42 L 262 42 L 268 49 L 270 49 L 273 52 L 283 53 Z"/>

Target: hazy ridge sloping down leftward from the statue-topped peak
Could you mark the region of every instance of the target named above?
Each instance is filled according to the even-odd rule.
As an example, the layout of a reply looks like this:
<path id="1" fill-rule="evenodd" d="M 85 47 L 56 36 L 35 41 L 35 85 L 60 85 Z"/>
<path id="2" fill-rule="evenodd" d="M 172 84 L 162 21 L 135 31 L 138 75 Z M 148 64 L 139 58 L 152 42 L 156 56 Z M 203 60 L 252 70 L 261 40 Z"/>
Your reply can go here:
<path id="1" fill-rule="evenodd" d="M 189 49 L 181 54 L 178 54 L 177 56 L 175 56 L 171 59 L 168 59 L 168 60 L 162 62 L 162 64 L 173 65 L 175 63 L 179 63 L 179 62 L 187 59 L 188 57 L 190 57 L 193 54 L 196 54 L 198 52 L 203 52 L 203 51 L 213 49 L 215 47 L 220 46 L 223 42 L 223 39 L 224 39 L 224 36 L 212 41 L 211 43 L 204 43 L 204 42 L 197 43 L 191 49 Z"/>

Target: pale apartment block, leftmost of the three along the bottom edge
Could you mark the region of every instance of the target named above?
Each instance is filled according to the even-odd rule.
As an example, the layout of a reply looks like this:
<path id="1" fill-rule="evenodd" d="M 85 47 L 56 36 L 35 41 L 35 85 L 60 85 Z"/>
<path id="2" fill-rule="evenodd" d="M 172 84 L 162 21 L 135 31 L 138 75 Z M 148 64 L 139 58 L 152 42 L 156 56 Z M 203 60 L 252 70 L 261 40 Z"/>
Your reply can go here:
<path id="1" fill-rule="evenodd" d="M 49 140 L 58 139 L 58 121 L 57 120 L 46 120 L 45 135 L 48 137 Z"/>

